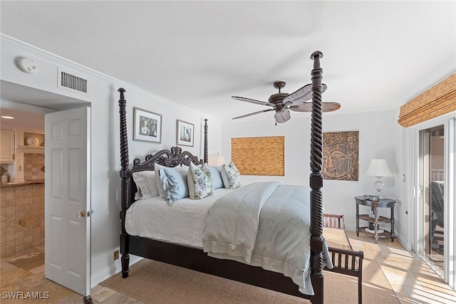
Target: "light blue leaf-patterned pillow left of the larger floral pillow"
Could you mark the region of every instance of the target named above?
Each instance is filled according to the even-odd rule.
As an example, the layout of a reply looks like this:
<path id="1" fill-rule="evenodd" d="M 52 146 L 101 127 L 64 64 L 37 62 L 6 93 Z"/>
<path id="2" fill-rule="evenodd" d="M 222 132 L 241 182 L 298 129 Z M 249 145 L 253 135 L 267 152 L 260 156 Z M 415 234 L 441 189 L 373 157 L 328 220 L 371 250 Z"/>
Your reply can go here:
<path id="1" fill-rule="evenodd" d="M 168 205 L 172 206 L 177 199 L 188 196 L 187 172 L 188 167 L 175 167 L 160 169 L 160 179 L 165 189 L 165 199 Z"/>

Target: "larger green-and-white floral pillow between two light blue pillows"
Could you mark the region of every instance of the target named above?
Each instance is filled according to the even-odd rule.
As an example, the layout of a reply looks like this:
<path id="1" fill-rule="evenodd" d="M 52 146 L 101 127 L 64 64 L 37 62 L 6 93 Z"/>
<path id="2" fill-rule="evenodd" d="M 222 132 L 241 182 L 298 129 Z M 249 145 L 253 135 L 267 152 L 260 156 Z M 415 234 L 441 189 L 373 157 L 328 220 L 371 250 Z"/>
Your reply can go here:
<path id="1" fill-rule="evenodd" d="M 190 199 L 204 199 L 214 193 L 212 174 L 207 164 L 196 166 L 190 163 L 187 182 Z"/>

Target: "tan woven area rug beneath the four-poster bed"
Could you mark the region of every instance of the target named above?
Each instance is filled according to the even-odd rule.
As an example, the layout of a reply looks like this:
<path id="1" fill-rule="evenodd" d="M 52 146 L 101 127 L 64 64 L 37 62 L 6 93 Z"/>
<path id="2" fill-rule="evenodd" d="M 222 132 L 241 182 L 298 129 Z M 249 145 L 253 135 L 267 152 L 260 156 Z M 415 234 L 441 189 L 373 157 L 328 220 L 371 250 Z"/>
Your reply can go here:
<path id="1" fill-rule="evenodd" d="M 371 261 L 366 261 L 367 268 L 363 269 L 366 275 L 375 277 L 375 284 L 363 286 L 363 303 L 399 303 L 375 259 Z M 327 271 L 324 276 L 325 303 L 358 303 L 357 278 Z M 147 259 L 131 266 L 128 278 L 118 273 L 100 285 L 150 304 L 309 303 L 292 295 Z"/>

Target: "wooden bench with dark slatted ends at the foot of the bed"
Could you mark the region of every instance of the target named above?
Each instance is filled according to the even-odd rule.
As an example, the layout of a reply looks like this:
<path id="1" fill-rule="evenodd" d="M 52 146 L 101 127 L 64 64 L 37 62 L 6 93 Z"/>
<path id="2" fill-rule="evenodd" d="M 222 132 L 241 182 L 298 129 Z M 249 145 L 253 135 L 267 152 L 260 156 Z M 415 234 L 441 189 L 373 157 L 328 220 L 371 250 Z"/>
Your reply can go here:
<path id="1" fill-rule="evenodd" d="M 323 214 L 323 236 L 328 243 L 334 268 L 326 271 L 358 278 L 358 303 L 363 303 L 363 251 L 353 251 L 345 234 L 345 219 L 339 214 Z M 343 233 L 342 233 L 343 232 Z"/>

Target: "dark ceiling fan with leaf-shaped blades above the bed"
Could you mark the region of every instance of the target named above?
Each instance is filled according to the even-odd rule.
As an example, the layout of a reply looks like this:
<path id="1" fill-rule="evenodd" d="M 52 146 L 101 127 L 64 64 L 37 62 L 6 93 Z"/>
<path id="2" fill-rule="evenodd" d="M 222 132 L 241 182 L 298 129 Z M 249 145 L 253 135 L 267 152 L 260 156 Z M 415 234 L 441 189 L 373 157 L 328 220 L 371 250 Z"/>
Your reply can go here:
<path id="1" fill-rule="evenodd" d="M 311 112 L 312 103 L 306 102 L 306 101 L 312 99 L 312 85 L 310 83 L 308 85 L 304 85 L 304 87 L 300 88 L 299 90 L 296 90 L 294 93 L 291 93 L 291 94 L 281 93 L 281 89 L 284 88 L 285 84 L 286 84 L 285 81 L 281 81 L 281 80 L 274 81 L 274 88 L 279 89 L 279 93 L 272 94 L 269 97 L 269 100 L 267 103 L 265 101 L 261 101 L 261 100 L 254 100 L 254 99 L 250 99 L 250 98 L 232 96 L 232 98 L 236 99 L 236 100 L 245 101 L 247 103 L 254 103 L 255 105 L 266 105 L 267 107 L 270 107 L 269 109 L 266 109 L 266 110 L 261 110 L 258 112 L 241 115 L 238 117 L 234 117 L 233 119 L 236 120 L 238 118 L 249 117 L 252 115 L 259 114 L 259 113 L 275 110 L 276 114 L 274 114 L 274 118 L 276 119 L 276 122 L 282 123 L 282 122 L 287 122 L 290 120 L 291 115 L 290 115 L 289 110 L 296 111 L 296 112 Z M 321 93 L 323 93 L 326 90 L 326 88 L 327 88 L 326 85 L 324 83 L 322 83 L 321 84 Z M 323 112 L 331 112 L 334 110 L 338 110 L 338 108 L 341 108 L 340 103 L 334 103 L 334 102 L 321 103 L 321 110 Z"/>

